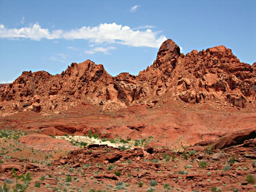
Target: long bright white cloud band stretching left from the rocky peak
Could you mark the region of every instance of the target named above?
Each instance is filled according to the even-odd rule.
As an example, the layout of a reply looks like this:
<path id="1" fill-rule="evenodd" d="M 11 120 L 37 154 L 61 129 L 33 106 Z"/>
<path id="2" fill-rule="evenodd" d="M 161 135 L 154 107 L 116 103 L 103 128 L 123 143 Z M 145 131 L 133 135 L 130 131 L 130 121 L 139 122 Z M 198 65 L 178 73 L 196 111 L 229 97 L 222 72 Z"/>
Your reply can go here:
<path id="1" fill-rule="evenodd" d="M 112 24 L 100 24 L 96 27 L 82 27 L 68 31 L 53 30 L 42 28 L 38 23 L 30 27 L 8 29 L 0 24 L 0 38 L 29 38 L 31 40 L 41 40 L 42 38 L 53 39 L 84 39 L 92 43 L 117 43 L 134 47 L 152 47 L 159 48 L 166 40 L 166 37 L 158 36 L 159 32 L 132 30 L 128 26 Z"/>

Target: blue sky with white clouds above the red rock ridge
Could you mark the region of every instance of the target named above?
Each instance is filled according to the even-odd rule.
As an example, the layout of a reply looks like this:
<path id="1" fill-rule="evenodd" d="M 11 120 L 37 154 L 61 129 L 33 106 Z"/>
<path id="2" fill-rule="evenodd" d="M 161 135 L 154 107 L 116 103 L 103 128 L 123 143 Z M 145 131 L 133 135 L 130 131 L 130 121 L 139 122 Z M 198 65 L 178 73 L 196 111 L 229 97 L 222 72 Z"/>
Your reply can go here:
<path id="1" fill-rule="evenodd" d="M 0 0 L 0 83 L 71 62 L 138 75 L 168 38 L 184 54 L 217 45 L 256 62 L 255 0 Z"/>

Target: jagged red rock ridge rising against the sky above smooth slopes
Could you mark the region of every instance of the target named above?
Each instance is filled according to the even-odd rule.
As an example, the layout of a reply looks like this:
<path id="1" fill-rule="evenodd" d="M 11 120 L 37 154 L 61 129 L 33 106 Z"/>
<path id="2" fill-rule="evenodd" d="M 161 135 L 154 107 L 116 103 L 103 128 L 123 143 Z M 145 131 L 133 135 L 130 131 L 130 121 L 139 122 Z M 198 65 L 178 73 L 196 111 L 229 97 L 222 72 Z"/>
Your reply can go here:
<path id="1" fill-rule="evenodd" d="M 1 86 L 0 114 L 34 110 L 67 110 L 86 102 L 102 110 L 136 104 L 173 102 L 222 104 L 223 108 L 255 106 L 255 63 L 240 63 L 225 46 L 186 54 L 168 39 L 156 60 L 138 76 L 110 76 L 103 65 L 86 60 L 72 63 L 52 76 L 48 72 L 23 72 L 12 84 Z"/>

